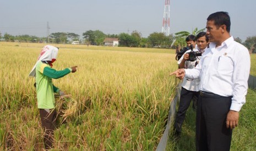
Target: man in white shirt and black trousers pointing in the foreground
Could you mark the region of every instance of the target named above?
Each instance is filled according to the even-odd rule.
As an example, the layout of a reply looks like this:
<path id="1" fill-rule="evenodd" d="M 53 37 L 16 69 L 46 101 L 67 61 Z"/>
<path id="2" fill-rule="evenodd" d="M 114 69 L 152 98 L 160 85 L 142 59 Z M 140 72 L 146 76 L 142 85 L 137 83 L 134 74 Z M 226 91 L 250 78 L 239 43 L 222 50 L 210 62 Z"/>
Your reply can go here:
<path id="1" fill-rule="evenodd" d="M 197 108 L 197 150 L 230 150 L 232 129 L 246 102 L 250 56 L 230 35 L 230 16 L 224 11 L 209 15 L 206 34 L 209 49 L 194 69 L 170 73 L 183 79 L 200 78 Z"/>

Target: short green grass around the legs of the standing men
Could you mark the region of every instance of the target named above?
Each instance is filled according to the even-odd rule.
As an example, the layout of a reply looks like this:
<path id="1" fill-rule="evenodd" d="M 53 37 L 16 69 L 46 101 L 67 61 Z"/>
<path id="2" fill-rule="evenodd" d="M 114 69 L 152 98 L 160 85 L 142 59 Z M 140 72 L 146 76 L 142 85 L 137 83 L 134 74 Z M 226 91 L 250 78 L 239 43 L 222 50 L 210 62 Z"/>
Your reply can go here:
<path id="1" fill-rule="evenodd" d="M 256 150 L 256 90 L 248 89 L 246 103 L 239 112 L 238 127 L 233 130 L 230 150 Z M 171 136 L 166 150 L 195 150 L 195 111 L 188 108 L 179 139 Z M 172 129 L 171 129 L 172 130 Z"/>

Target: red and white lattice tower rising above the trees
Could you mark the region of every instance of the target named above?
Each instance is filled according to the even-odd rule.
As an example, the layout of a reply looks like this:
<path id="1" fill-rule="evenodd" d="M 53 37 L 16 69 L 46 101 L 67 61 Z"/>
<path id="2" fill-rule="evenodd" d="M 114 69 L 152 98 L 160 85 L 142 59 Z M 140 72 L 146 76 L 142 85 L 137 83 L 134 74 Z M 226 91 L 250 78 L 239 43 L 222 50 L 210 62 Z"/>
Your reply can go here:
<path id="1" fill-rule="evenodd" d="M 162 20 L 162 33 L 170 35 L 170 0 L 165 0 L 164 19 Z"/>

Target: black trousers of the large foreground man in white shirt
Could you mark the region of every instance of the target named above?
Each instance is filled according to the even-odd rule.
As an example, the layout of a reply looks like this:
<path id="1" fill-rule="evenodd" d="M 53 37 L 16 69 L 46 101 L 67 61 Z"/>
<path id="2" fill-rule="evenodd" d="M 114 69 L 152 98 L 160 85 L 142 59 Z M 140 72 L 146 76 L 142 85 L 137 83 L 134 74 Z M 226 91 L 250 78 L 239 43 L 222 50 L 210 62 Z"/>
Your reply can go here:
<path id="1" fill-rule="evenodd" d="M 232 97 L 201 92 L 196 120 L 197 150 L 230 150 L 232 130 L 226 128 Z"/>

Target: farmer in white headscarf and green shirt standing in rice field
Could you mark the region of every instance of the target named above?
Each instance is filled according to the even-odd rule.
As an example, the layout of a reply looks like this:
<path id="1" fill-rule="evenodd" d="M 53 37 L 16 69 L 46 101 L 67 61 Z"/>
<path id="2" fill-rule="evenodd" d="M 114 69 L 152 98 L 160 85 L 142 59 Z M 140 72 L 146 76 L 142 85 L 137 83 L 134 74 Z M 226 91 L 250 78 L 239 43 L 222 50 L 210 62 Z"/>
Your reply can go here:
<path id="1" fill-rule="evenodd" d="M 76 72 L 77 66 L 56 71 L 52 68 L 52 63 L 56 61 L 58 48 L 52 45 L 45 45 L 42 48 L 35 66 L 29 76 L 36 78 L 37 106 L 39 108 L 42 127 L 45 130 L 43 142 L 45 149 L 52 148 L 53 131 L 56 126 L 55 96 L 54 92 L 60 96 L 65 95 L 52 84 L 52 78 L 58 79 L 68 73 Z"/>

